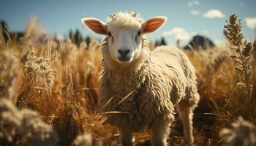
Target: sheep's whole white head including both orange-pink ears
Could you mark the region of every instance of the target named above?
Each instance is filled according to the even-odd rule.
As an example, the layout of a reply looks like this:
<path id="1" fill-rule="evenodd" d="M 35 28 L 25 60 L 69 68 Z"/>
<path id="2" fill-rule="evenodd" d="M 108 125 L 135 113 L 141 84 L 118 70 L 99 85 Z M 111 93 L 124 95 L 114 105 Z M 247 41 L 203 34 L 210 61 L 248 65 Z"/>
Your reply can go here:
<path id="1" fill-rule="evenodd" d="M 143 36 L 157 31 L 167 18 L 154 17 L 144 21 L 135 12 L 116 12 L 103 23 L 96 18 L 83 18 L 82 23 L 91 31 L 108 37 L 109 53 L 118 64 L 129 64 L 139 58 Z"/>

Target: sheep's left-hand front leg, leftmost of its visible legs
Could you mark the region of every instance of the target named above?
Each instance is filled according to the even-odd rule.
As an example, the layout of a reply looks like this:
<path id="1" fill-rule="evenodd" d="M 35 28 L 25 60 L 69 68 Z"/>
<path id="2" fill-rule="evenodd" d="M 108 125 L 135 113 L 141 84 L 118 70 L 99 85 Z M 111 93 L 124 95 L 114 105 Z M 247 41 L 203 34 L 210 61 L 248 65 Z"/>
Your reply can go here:
<path id="1" fill-rule="evenodd" d="M 127 128 L 119 128 L 120 141 L 123 146 L 134 146 L 135 138 L 133 132 Z"/>

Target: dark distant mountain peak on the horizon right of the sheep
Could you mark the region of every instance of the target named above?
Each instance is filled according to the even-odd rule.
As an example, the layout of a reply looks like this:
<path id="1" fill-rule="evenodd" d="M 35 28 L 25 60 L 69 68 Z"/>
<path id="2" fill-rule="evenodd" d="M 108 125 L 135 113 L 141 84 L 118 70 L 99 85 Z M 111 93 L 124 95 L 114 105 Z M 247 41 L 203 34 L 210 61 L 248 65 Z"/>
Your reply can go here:
<path id="1" fill-rule="evenodd" d="M 197 50 L 200 48 L 206 50 L 207 48 L 211 47 L 215 47 L 214 42 L 212 42 L 211 39 L 208 39 L 208 37 L 197 35 L 192 38 L 187 46 L 184 47 L 184 50 Z"/>

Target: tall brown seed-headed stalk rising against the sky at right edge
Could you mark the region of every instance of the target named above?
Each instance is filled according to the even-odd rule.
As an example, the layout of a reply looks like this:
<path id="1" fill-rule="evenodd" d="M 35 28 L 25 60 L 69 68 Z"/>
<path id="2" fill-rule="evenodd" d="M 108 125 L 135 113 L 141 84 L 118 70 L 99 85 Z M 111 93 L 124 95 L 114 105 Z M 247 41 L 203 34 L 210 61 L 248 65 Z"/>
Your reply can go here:
<path id="1" fill-rule="evenodd" d="M 238 20 L 238 16 L 236 14 L 230 15 L 229 20 L 227 20 L 227 25 L 225 26 L 225 29 L 227 31 L 226 37 L 231 45 L 230 48 L 231 50 L 233 50 L 233 55 L 231 55 L 230 57 L 233 58 L 236 62 L 235 69 L 239 74 L 238 82 L 236 82 L 236 85 L 239 85 L 241 88 L 245 88 L 247 96 L 246 104 L 248 104 L 249 101 L 253 98 L 251 80 L 253 62 L 252 43 L 246 42 L 246 40 L 244 40 L 244 35 L 241 33 L 241 20 Z M 241 79 L 241 77 L 243 78 Z M 234 87 L 236 87 L 236 85 L 234 85 Z M 227 98 L 223 109 L 227 107 L 227 104 L 230 101 L 230 97 L 231 96 Z"/>

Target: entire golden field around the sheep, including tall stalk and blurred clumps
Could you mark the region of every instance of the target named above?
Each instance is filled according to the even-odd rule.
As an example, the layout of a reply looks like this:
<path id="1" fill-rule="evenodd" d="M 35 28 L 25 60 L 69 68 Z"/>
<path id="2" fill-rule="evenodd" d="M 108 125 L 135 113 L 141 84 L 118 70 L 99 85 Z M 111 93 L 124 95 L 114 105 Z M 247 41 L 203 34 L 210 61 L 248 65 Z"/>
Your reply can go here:
<path id="1" fill-rule="evenodd" d="M 236 15 L 225 30 L 223 47 L 184 50 L 197 71 L 200 103 L 193 132 L 199 146 L 255 142 L 256 42 L 243 39 Z M 102 118 L 115 113 L 97 107 L 101 42 L 39 42 L 41 31 L 32 19 L 19 41 L 4 41 L 0 34 L 0 146 L 119 145 L 118 131 Z M 150 138 L 148 129 L 135 134 L 137 145 L 150 145 Z M 168 142 L 184 145 L 180 120 Z"/>

